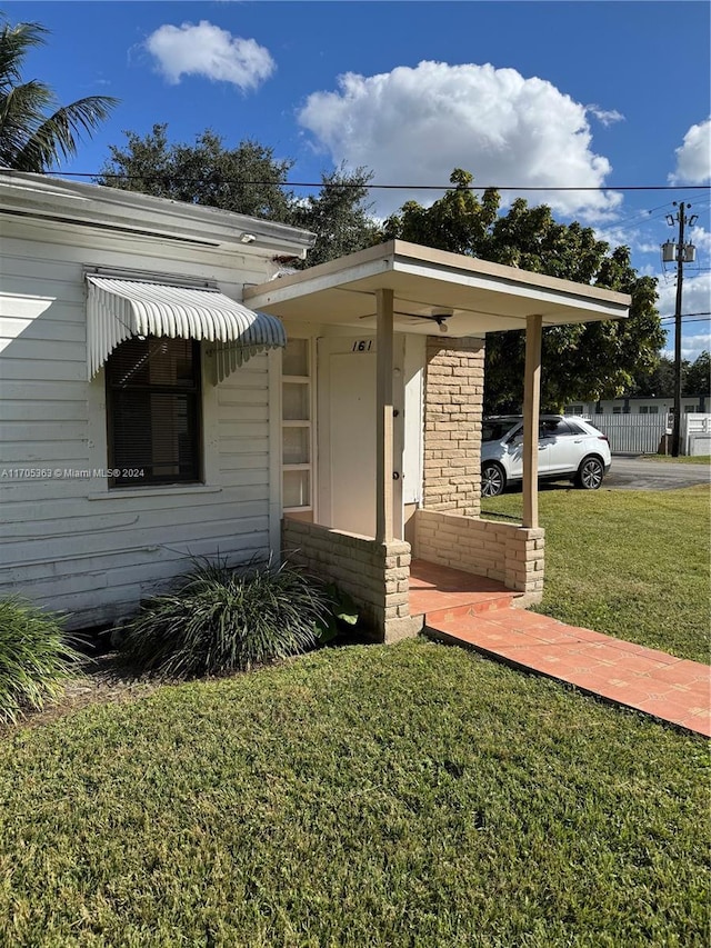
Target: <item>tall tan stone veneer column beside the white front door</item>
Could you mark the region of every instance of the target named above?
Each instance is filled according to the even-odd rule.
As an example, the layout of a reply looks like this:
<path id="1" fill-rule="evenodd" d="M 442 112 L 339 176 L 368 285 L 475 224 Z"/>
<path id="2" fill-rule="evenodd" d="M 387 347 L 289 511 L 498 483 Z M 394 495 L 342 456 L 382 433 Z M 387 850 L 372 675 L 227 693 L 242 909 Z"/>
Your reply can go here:
<path id="1" fill-rule="evenodd" d="M 479 517 L 484 340 L 427 338 L 422 506 Z"/>

